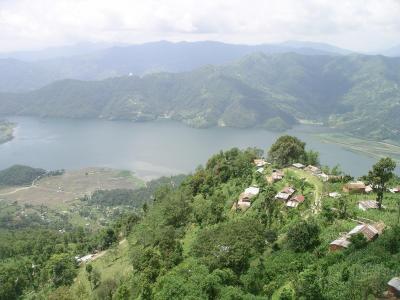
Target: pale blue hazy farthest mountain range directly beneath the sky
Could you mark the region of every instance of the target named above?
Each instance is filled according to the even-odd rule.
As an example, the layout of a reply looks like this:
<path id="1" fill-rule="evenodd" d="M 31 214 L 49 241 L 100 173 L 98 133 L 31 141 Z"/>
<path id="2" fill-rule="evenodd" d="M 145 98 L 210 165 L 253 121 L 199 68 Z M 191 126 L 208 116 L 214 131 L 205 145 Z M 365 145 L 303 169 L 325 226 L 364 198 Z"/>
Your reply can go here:
<path id="1" fill-rule="evenodd" d="M 327 44 L 295 41 L 255 46 L 165 41 L 117 47 L 83 44 L 0 55 L 0 91 L 29 91 L 60 79 L 101 80 L 128 74 L 191 71 L 204 65 L 226 64 L 256 52 L 350 53 Z"/>

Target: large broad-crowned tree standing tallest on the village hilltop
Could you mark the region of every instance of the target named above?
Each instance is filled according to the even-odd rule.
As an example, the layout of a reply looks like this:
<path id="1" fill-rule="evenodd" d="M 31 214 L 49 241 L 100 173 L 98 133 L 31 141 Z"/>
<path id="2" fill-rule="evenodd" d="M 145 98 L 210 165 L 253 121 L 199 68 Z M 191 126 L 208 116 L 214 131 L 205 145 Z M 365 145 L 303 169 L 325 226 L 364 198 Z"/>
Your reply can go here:
<path id="1" fill-rule="evenodd" d="M 288 166 L 295 162 L 304 162 L 306 157 L 305 145 L 297 137 L 281 136 L 268 151 L 268 159 L 280 167 Z"/>

